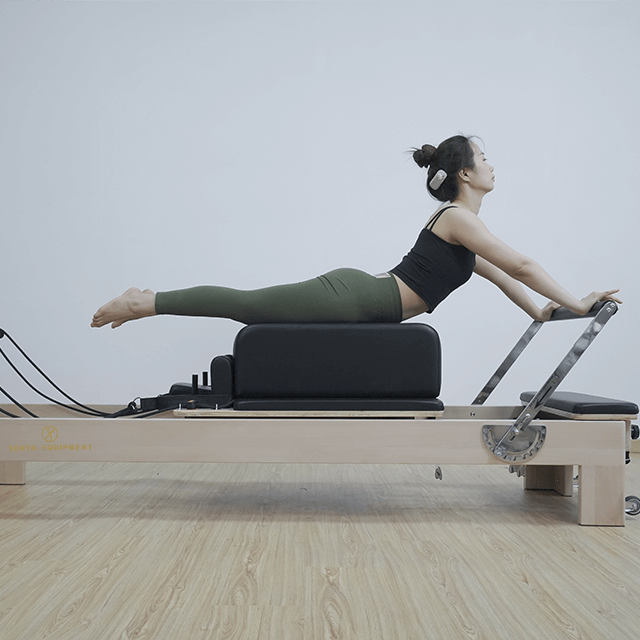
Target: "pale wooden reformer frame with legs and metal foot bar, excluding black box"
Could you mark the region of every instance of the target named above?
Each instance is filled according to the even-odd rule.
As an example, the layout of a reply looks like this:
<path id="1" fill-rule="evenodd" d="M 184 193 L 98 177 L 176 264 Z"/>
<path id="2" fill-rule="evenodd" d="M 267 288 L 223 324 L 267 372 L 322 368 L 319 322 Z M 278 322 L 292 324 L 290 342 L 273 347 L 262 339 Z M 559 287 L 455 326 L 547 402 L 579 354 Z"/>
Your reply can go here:
<path id="1" fill-rule="evenodd" d="M 25 484 L 28 461 L 491 464 L 526 470 L 526 489 L 571 496 L 577 466 L 579 523 L 624 526 L 625 451 L 637 416 L 553 415 L 544 407 L 616 310 L 612 302 L 594 307 L 587 330 L 524 409 L 482 403 L 540 328 L 536 322 L 474 404 L 440 412 L 186 409 L 104 419 L 31 405 L 42 417 L 0 417 L 0 484 Z M 558 310 L 553 319 L 570 317 Z"/>

